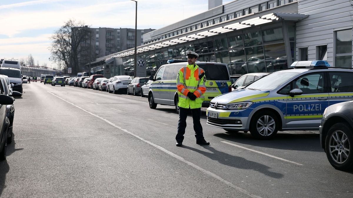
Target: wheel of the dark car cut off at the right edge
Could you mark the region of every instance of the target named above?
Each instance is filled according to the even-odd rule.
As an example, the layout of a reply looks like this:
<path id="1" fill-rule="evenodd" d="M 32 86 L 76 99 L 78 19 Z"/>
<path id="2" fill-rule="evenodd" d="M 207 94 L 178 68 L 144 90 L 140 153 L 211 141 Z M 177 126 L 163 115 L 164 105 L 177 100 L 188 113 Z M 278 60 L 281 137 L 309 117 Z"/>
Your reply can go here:
<path id="1" fill-rule="evenodd" d="M 330 164 L 342 171 L 353 170 L 353 129 L 346 123 L 336 123 L 328 130 L 325 151 Z"/>

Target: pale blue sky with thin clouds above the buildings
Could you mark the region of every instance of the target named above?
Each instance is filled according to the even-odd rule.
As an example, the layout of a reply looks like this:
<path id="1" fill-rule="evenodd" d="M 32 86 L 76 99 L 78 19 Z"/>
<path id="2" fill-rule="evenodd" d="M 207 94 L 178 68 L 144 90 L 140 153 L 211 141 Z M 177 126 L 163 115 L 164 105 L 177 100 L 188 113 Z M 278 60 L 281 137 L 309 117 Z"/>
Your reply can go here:
<path id="1" fill-rule="evenodd" d="M 208 0 L 137 1 L 137 29 L 159 29 L 208 10 Z M 0 58 L 31 54 L 40 66 L 56 68 L 49 60 L 49 38 L 65 21 L 134 29 L 135 6 L 131 0 L 0 0 Z"/>

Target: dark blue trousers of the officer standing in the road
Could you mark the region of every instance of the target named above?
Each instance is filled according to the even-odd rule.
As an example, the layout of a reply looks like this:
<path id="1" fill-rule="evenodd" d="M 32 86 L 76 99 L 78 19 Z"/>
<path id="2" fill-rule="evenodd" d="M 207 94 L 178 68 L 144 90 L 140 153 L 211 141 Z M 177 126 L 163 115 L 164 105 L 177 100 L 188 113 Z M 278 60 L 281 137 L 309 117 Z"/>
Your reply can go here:
<path id="1" fill-rule="evenodd" d="M 185 109 L 182 107 L 180 107 L 179 109 L 178 134 L 175 137 L 175 140 L 177 140 L 177 142 L 180 142 L 180 143 L 183 142 L 184 140 L 184 134 L 186 129 L 186 118 L 187 118 L 187 113 L 189 113 L 189 111 L 191 111 L 191 114 L 192 114 L 196 141 L 205 141 L 203 137 L 202 126 L 200 123 L 201 108 Z"/>

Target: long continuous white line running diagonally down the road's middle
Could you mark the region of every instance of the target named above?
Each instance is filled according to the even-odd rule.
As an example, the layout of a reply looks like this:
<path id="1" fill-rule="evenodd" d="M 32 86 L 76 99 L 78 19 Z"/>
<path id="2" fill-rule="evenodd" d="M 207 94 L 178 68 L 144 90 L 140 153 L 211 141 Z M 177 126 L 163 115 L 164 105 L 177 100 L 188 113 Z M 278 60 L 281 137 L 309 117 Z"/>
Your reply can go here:
<path id="1" fill-rule="evenodd" d="M 53 93 L 51 93 L 51 92 L 49 92 L 49 91 L 48 91 L 48 93 L 50 93 L 50 94 L 52 94 L 52 95 L 54 95 L 54 96 L 60 98 L 58 95 L 55 95 L 55 94 L 53 94 Z M 132 132 L 130 132 L 130 131 L 126 130 L 126 129 L 121 128 L 120 126 L 115 125 L 114 123 L 110 122 L 109 120 L 107 120 L 107 119 L 105 119 L 105 118 L 102 118 L 102 117 L 100 117 L 100 116 L 95 115 L 94 113 L 91 113 L 91 112 L 89 112 L 89 111 L 87 111 L 87 110 L 84 110 L 84 109 L 82 109 L 81 107 L 79 107 L 79 106 L 77 106 L 77 105 L 75 105 L 75 104 L 73 104 L 73 103 L 70 103 L 69 101 L 67 101 L 67 100 L 65 100 L 65 99 L 62 99 L 62 98 L 60 98 L 60 99 L 61 99 L 61 100 L 64 100 L 65 102 L 67 102 L 67 103 L 69 103 L 69 104 L 71 104 L 71 105 L 73 105 L 73 106 L 75 106 L 75 107 L 77 107 L 78 109 L 80 109 L 80 110 L 82 110 L 82 111 L 84 111 L 84 112 L 87 112 L 87 113 L 91 114 L 92 116 L 95 116 L 95 117 L 97 117 L 97 118 L 103 120 L 104 122 L 106 122 L 106 123 L 108 123 L 108 124 L 114 126 L 115 128 L 118 128 L 118 129 L 120 129 L 120 130 L 122 130 L 122 131 L 124 131 L 124 132 L 127 132 L 128 134 L 131 134 L 132 136 L 135 136 L 135 137 L 139 138 L 140 140 L 142 140 L 142 141 L 144 141 L 144 142 L 150 144 L 151 146 L 154 146 L 154 147 L 160 149 L 160 150 L 163 151 L 164 153 L 167 153 L 167 154 L 171 155 L 172 157 L 174 157 L 174 158 L 176 158 L 176 159 L 178 159 L 178 160 L 180 160 L 180 161 L 182 161 L 182 162 L 184 162 L 184 163 L 186 163 L 186 164 L 188 164 L 188 165 L 190 165 L 190 166 L 196 168 L 197 170 L 199 170 L 199 171 L 201 171 L 201 172 L 204 172 L 205 174 L 208 174 L 208 175 L 210 175 L 211 177 L 213 177 L 213 178 L 215 178 L 215 179 L 220 180 L 221 182 L 223 182 L 223 183 L 225 183 L 225 184 L 227 184 L 227 185 L 229 185 L 229 186 L 231 186 L 231 187 L 237 189 L 238 191 L 240 191 L 240 192 L 246 194 L 246 195 L 249 196 L 249 197 L 256 197 L 256 198 L 259 198 L 259 196 L 255 195 L 255 194 L 251 194 L 250 192 L 247 192 L 247 191 L 244 190 L 243 188 L 240 188 L 240 187 L 238 187 L 238 186 L 235 186 L 234 184 L 232 184 L 231 182 L 229 182 L 229 181 L 227 181 L 227 180 L 221 178 L 220 176 L 218 176 L 218 175 L 216 175 L 216 174 L 214 174 L 214 173 L 212 173 L 212 172 L 210 172 L 210 171 L 207 171 L 207 170 L 205 170 L 205 169 L 203 169 L 203 168 L 197 166 L 196 164 L 194 164 L 194 163 L 192 163 L 192 162 L 189 162 L 189 161 L 185 160 L 183 157 L 181 157 L 181 156 L 179 156 L 179 155 L 177 155 L 177 154 L 175 154 L 175 153 L 172 153 L 172 152 L 170 152 L 169 150 L 167 150 L 167 149 L 165 149 L 165 148 L 163 148 L 163 147 L 161 147 L 161 146 L 158 146 L 157 144 L 154 144 L 154 143 L 152 143 L 152 142 L 150 142 L 150 141 L 148 141 L 148 140 L 143 139 L 142 137 L 139 137 L 138 135 L 135 135 L 135 134 L 133 134 Z"/>

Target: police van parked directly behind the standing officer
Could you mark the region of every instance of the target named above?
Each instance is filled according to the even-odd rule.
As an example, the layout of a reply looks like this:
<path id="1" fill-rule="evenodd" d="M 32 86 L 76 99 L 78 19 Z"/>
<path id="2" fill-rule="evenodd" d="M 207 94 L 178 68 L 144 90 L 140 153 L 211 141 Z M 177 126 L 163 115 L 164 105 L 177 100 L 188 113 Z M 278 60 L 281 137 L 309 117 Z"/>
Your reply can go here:
<path id="1" fill-rule="evenodd" d="M 223 63 L 196 62 L 196 64 L 205 71 L 207 82 L 202 106 L 208 107 L 213 98 L 232 90 L 228 68 Z M 151 109 L 155 109 L 157 104 L 174 105 L 177 113 L 179 112 L 177 75 L 179 70 L 186 65 L 186 61 L 164 64 L 154 76 L 150 76 L 150 80 L 153 81 L 148 93 Z"/>

